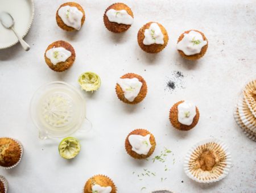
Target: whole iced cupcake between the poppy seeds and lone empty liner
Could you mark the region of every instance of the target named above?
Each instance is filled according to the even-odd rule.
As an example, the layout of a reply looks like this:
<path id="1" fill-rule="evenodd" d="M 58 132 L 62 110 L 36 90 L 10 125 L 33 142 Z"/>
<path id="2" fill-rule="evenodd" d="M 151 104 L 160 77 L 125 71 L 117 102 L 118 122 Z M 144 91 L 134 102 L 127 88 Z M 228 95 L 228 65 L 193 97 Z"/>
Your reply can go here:
<path id="1" fill-rule="evenodd" d="M 188 131 L 199 121 L 199 110 L 192 102 L 181 100 L 172 106 L 169 119 L 172 126 L 181 131 Z"/>

